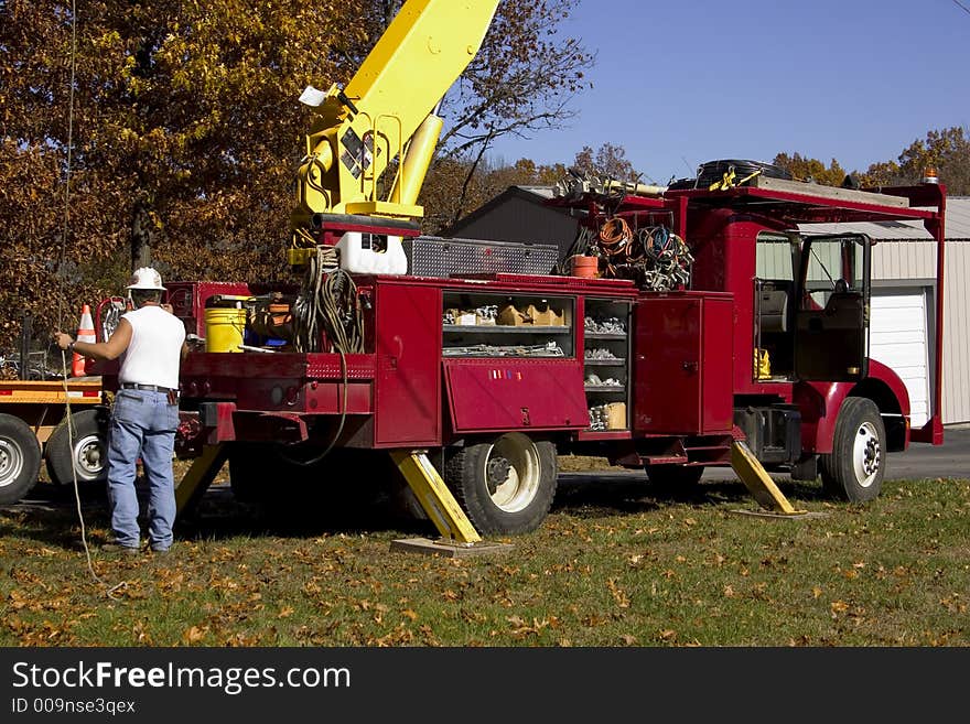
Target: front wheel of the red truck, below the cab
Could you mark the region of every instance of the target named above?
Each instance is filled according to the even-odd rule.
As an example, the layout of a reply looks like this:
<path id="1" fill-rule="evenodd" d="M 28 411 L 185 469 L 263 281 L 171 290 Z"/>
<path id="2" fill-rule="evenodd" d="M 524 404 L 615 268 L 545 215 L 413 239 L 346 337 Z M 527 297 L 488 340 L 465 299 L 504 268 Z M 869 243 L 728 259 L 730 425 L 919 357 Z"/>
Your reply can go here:
<path id="1" fill-rule="evenodd" d="M 886 473 L 886 429 L 875 402 L 845 399 L 836 420 L 832 452 L 819 455 L 819 472 L 832 497 L 851 503 L 879 497 Z"/>

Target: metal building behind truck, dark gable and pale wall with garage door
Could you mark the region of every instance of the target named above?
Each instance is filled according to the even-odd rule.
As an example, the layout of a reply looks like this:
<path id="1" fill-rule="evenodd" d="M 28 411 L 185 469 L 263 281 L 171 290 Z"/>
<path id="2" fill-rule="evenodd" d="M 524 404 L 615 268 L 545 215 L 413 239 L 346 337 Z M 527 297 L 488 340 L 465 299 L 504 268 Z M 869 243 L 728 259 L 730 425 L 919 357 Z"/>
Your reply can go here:
<path id="1" fill-rule="evenodd" d="M 576 219 L 564 209 L 543 204 L 551 197 L 547 186 L 511 186 L 460 220 L 445 236 L 556 244 L 564 255 L 575 238 Z M 833 229 L 815 224 L 804 230 Z M 935 369 L 929 344 L 936 334 L 935 245 L 915 221 L 842 225 L 839 230 L 867 234 L 876 241 L 870 356 L 903 378 L 909 391 L 913 424 L 922 425 L 928 414 L 930 375 Z M 944 424 L 955 424 L 970 422 L 970 196 L 947 199 L 946 234 L 942 420 Z"/>

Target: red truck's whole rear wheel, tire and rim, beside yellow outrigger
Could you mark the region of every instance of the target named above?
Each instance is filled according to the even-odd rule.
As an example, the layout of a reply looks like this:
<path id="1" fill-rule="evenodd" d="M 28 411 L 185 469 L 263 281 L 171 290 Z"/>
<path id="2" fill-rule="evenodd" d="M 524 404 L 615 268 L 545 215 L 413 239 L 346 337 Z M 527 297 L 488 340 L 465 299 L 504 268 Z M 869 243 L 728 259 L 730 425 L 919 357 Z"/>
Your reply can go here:
<path id="1" fill-rule="evenodd" d="M 481 533 L 536 530 L 556 495 L 556 445 L 509 432 L 466 445 L 445 465 L 445 482 Z"/>

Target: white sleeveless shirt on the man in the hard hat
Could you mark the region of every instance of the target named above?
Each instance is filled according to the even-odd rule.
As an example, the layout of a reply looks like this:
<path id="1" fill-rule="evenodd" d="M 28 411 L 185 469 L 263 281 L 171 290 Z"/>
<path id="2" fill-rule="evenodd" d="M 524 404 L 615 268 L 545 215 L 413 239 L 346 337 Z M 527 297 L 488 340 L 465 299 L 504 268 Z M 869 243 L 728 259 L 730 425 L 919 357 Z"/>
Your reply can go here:
<path id="1" fill-rule="evenodd" d="M 185 342 L 182 320 L 152 305 L 128 312 L 121 318 L 131 325 L 131 342 L 121 355 L 118 381 L 177 388 Z"/>

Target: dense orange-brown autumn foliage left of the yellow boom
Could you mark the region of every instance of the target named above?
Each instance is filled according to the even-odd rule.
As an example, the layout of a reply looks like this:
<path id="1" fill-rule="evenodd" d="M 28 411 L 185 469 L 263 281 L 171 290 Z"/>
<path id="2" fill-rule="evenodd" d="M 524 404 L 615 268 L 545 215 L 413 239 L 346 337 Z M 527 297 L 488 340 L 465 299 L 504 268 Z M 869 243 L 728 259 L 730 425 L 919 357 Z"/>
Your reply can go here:
<path id="1" fill-rule="evenodd" d="M 94 299 L 99 283 L 117 291 L 132 266 L 152 262 L 169 279 L 249 279 L 281 264 L 306 120 L 297 98 L 313 78 L 351 75 L 349 48 L 365 42 L 357 12 L 337 0 L 108 0 L 73 19 L 63 2 L 0 4 L 10 162 L 0 185 L 28 176 L 0 203 L 12 205 L 4 214 L 46 219 L 2 234 L 18 234 L 7 240 L 29 258 L 65 251 L 60 295 L 72 318 L 78 299 Z M 68 128 L 69 207 L 54 193 L 66 177 Z M 47 173 L 20 171 L 32 164 Z M 103 268 L 111 279 L 98 278 Z M 6 290 L 24 269 L 4 261 L 2 272 Z M 41 274 L 41 285 L 57 296 L 50 279 Z M 11 300 L 0 305 L 4 318 L 13 313 Z"/>

